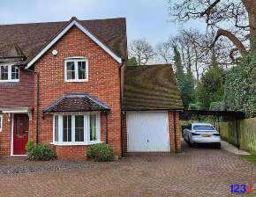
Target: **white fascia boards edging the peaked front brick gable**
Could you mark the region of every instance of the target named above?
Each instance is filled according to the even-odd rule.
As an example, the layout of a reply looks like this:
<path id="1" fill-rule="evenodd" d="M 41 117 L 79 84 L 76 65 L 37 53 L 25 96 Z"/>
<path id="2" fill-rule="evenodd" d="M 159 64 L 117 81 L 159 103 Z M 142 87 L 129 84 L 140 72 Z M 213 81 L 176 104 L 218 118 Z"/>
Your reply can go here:
<path id="1" fill-rule="evenodd" d="M 64 28 L 64 30 L 59 33 L 56 38 L 54 40 L 52 40 L 46 47 L 44 47 L 41 52 L 36 55 L 34 57 L 33 60 L 31 60 L 30 62 L 27 63 L 27 66 L 26 66 L 26 69 L 28 69 L 29 67 L 31 67 L 33 65 L 34 62 L 36 62 L 40 57 L 41 55 L 43 55 L 50 47 L 52 47 L 57 40 L 59 40 L 63 35 L 64 33 L 66 33 L 67 31 L 69 31 L 72 26 L 78 26 L 79 29 L 83 32 L 83 33 L 86 33 L 87 36 L 89 36 L 92 40 L 94 40 L 94 42 L 96 42 L 100 47 L 102 47 L 109 55 L 111 55 L 115 60 L 117 60 L 117 62 L 119 63 L 122 63 L 122 58 L 118 57 L 117 55 L 115 55 L 111 50 L 109 50 L 108 47 L 106 47 L 105 45 L 102 44 L 102 42 L 100 40 L 98 40 L 92 33 L 89 33 L 87 31 L 87 29 L 83 26 L 81 26 L 76 20 L 73 20 L 68 26 L 66 26 Z"/>

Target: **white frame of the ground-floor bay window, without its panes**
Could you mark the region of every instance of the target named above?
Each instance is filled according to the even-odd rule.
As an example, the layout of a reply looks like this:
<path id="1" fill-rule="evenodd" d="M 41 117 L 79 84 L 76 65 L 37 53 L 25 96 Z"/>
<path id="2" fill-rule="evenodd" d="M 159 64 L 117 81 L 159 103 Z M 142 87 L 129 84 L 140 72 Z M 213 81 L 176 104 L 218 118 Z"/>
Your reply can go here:
<path id="1" fill-rule="evenodd" d="M 96 141 L 90 141 L 90 114 L 96 114 Z M 58 116 L 58 142 L 55 140 L 55 116 Z M 63 142 L 63 116 L 72 116 L 72 142 Z M 75 116 L 84 115 L 84 142 L 75 142 Z M 55 113 L 53 115 L 54 145 L 90 145 L 101 142 L 101 113 Z"/>

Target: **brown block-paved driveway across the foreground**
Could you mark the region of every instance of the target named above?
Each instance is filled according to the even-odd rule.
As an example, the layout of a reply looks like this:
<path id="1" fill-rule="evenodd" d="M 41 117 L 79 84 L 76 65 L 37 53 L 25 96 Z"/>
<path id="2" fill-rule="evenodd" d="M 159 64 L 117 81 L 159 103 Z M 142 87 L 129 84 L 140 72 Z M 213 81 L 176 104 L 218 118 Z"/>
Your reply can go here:
<path id="1" fill-rule="evenodd" d="M 189 148 L 181 154 L 128 154 L 121 162 L 30 162 L 21 157 L 0 157 L 8 166 L 97 166 L 91 168 L 0 175 L 0 196 L 235 196 L 230 185 L 252 186 L 253 164 L 226 150 Z"/>

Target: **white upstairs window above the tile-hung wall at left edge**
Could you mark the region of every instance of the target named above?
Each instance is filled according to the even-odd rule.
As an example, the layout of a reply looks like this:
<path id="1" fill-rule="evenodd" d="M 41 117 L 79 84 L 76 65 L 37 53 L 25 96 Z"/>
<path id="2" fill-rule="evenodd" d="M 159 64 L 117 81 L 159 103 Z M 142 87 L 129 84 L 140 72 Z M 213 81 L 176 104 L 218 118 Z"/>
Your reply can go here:
<path id="1" fill-rule="evenodd" d="M 19 82 L 19 69 L 14 65 L 0 65 L 0 83 Z"/>

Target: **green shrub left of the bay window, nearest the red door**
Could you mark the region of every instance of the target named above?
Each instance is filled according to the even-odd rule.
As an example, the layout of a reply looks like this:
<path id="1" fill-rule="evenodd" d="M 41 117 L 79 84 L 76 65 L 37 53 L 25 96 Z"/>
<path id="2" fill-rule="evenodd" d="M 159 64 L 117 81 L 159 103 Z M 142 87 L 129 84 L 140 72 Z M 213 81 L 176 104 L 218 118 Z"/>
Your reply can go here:
<path id="1" fill-rule="evenodd" d="M 44 144 L 34 144 L 28 152 L 30 160 L 49 160 L 56 158 L 56 152 L 53 147 Z"/>

